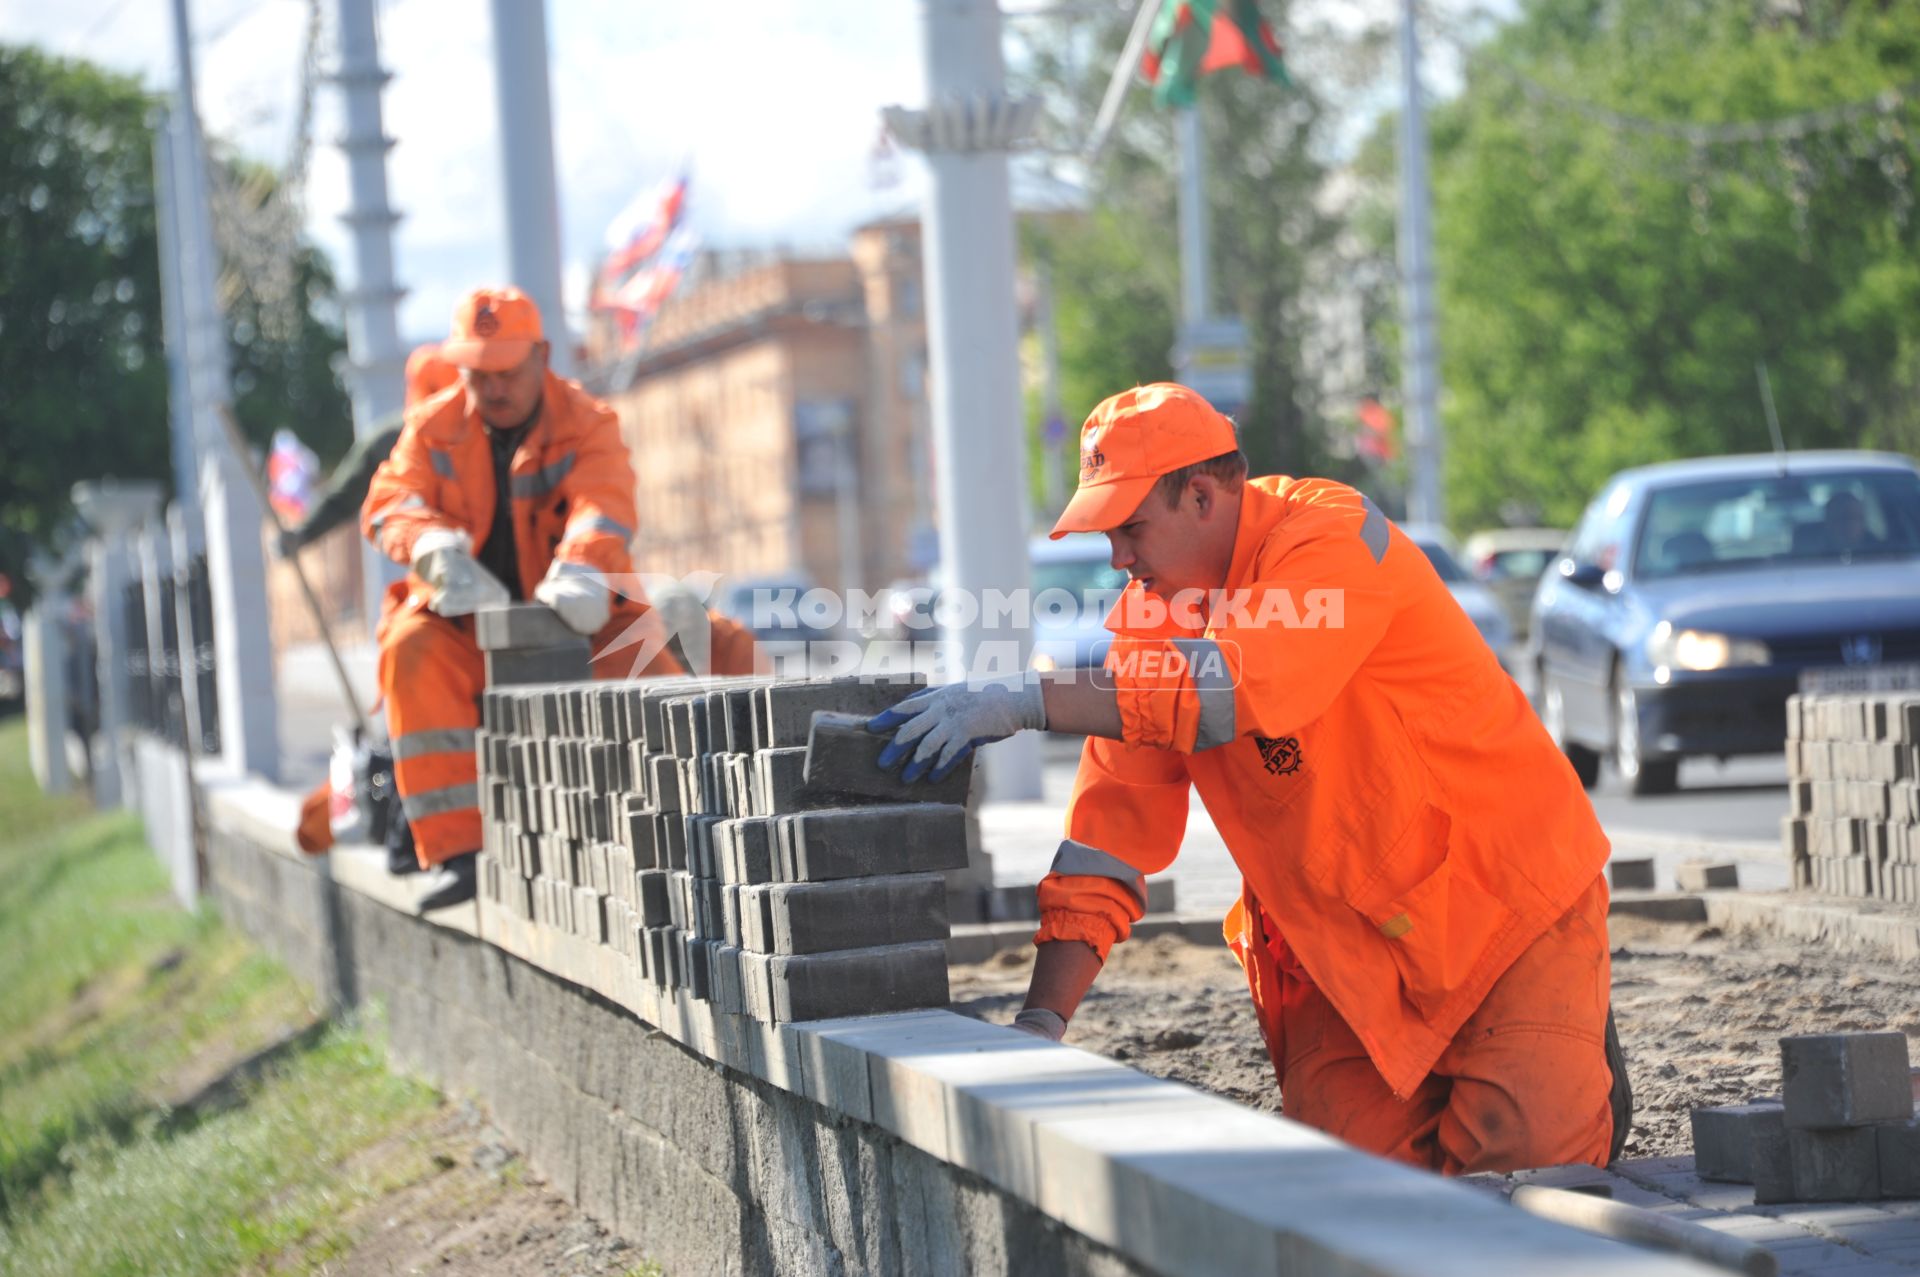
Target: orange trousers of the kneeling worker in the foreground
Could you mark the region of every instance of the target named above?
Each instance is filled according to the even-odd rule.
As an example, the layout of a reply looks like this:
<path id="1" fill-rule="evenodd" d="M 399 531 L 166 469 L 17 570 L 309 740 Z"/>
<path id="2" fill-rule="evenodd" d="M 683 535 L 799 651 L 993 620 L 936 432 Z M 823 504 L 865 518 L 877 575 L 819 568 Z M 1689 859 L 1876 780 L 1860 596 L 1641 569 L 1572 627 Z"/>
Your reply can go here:
<path id="1" fill-rule="evenodd" d="M 1596 878 L 1494 981 L 1405 1098 L 1386 1087 L 1354 1029 L 1277 941 L 1252 891 L 1242 906 L 1254 943 L 1236 952 L 1288 1118 L 1442 1175 L 1607 1166 L 1615 1096 L 1605 879 Z"/>

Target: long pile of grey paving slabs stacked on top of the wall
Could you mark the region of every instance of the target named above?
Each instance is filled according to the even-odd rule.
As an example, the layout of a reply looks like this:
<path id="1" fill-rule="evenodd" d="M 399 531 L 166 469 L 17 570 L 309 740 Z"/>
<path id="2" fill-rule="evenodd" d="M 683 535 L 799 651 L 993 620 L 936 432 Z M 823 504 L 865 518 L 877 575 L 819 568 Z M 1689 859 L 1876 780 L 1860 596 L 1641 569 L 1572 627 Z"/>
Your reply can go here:
<path id="1" fill-rule="evenodd" d="M 947 872 L 968 864 L 972 768 L 904 785 L 864 728 L 914 686 L 490 687 L 482 893 L 716 1012 L 945 1006 Z"/>

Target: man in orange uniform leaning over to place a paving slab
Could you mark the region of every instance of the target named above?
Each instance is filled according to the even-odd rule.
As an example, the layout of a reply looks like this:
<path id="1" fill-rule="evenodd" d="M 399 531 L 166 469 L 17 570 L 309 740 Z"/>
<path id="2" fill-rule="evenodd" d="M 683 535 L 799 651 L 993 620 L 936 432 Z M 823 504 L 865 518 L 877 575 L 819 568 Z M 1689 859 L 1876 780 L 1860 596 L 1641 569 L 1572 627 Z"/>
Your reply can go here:
<path id="1" fill-rule="evenodd" d="M 1227 941 L 1288 1118 L 1450 1175 L 1617 1158 L 1607 839 L 1419 545 L 1344 484 L 1248 480 L 1233 422 L 1171 384 L 1087 419 L 1068 532 L 1131 578 L 1104 676 L 872 722 L 914 780 L 1021 728 L 1089 737 L 1016 1027 L 1066 1033 L 1192 787 L 1244 879 Z"/>

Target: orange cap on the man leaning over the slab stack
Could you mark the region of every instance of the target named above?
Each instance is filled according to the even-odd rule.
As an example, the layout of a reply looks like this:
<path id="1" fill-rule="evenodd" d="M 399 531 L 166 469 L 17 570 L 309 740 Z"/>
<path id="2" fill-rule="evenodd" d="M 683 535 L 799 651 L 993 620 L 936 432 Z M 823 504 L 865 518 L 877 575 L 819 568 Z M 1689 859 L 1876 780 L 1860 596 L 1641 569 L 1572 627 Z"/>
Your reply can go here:
<path id="1" fill-rule="evenodd" d="M 1048 534 L 1108 532 L 1127 522 L 1162 474 L 1231 453 L 1233 422 L 1187 386 L 1121 390 L 1081 426 L 1081 486 Z"/>

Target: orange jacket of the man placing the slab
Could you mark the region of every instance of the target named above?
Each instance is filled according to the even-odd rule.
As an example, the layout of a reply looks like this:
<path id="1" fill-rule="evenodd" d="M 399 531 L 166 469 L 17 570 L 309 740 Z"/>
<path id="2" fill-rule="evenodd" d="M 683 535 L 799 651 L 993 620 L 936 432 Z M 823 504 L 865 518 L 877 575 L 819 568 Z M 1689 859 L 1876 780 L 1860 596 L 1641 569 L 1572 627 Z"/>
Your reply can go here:
<path id="1" fill-rule="evenodd" d="M 1601 872 L 1580 782 L 1427 555 L 1344 484 L 1250 480 L 1227 590 L 1129 626 L 1139 601 L 1108 620 L 1123 739 L 1085 745 L 1035 939 L 1123 941 L 1190 785 L 1409 1095 Z"/>

